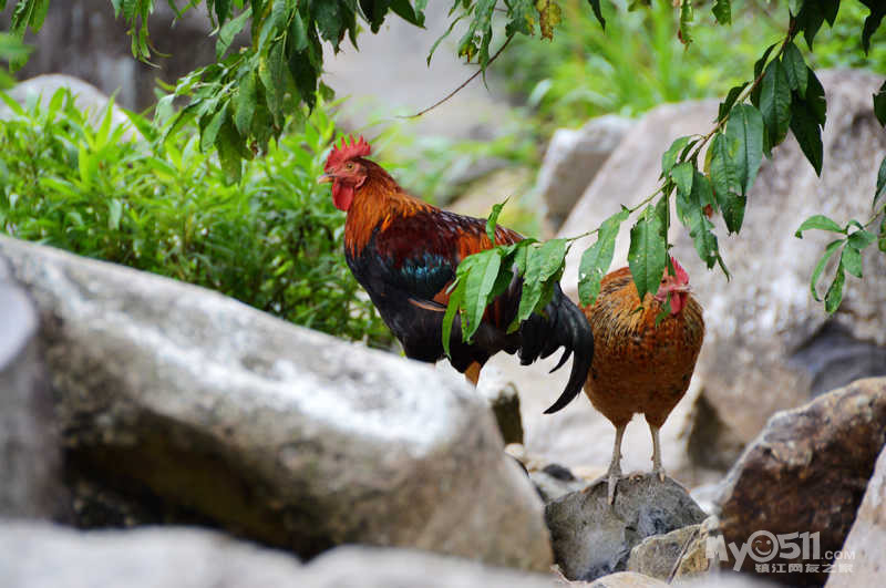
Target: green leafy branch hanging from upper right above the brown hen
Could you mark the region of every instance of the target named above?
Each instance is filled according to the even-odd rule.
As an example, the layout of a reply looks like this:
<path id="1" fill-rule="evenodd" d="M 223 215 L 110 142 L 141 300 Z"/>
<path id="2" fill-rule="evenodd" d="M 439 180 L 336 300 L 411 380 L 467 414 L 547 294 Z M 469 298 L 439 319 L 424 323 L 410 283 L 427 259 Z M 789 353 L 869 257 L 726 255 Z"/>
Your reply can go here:
<path id="1" fill-rule="evenodd" d="M 862 39 L 862 47 L 867 49 L 870 39 L 876 34 L 883 20 L 882 3 L 863 2 L 870 8 L 856 34 Z M 670 223 L 670 197 L 676 194 L 677 215 L 693 239 L 699 257 L 708 268 L 718 264 L 729 278 L 725 262 L 720 256 L 714 225 L 710 217 L 721 214 L 729 233 L 739 233 L 744 218 L 748 193 L 753 186 L 763 155 L 771 156 L 772 148 L 780 144 L 790 130 L 816 174 L 821 174 L 823 165 L 822 130 L 826 117 L 825 94 L 815 72 L 808 68 L 803 54 L 795 45 L 795 38 L 803 35 L 807 45 L 813 47 L 816 34 L 824 22 L 833 25 L 836 22 L 839 0 L 805 0 L 796 2 L 796 16 L 790 14 L 786 31 L 780 42 L 770 45 L 753 66 L 753 78 L 733 86 L 720 105 L 719 116 L 711 131 L 704 135 L 683 136 L 673 142 L 662 155 L 662 174 L 660 187 L 649 197 L 631 208 L 624 208 L 618 215 L 607 219 L 600 227 L 589 231 L 597 233 L 597 243 L 583 255 L 579 268 L 579 296 L 583 303 L 593 303 L 599 293 L 599 281 L 611 262 L 611 249 L 618 234 L 618 227 L 630 215 L 642 209 L 630 230 L 628 265 L 633 282 L 642 300 L 647 292 L 655 292 L 664 271 L 672 271 L 668 262 L 668 226 Z M 681 2 L 680 31 L 681 41 L 688 43 L 687 3 Z M 719 2 L 717 18 L 727 20 L 725 8 Z M 730 7 L 731 9 L 731 7 Z M 730 14 L 730 19 L 731 19 Z M 615 27 L 610 27 L 610 30 Z M 635 75 L 635 69 L 624 70 Z M 886 123 L 886 82 L 873 96 L 872 106 L 882 123 Z M 703 165 L 699 157 L 708 147 Z M 811 279 L 811 290 L 816 300 L 822 300 L 816 286 L 827 262 L 841 251 L 834 279 L 824 295 L 825 310 L 834 312 L 843 299 L 846 272 L 861 278 L 862 251 L 874 241 L 886 251 L 886 158 L 880 165 L 877 187 L 874 194 L 872 216 L 866 224 L 856 219 L 841 226 L 833 219 L 814 216 L 807 219 L 796 233 L 802 237 L 808 229 L 822 229 L 842 234 L 844 237 L 831 243 L 818 261 Z M 660 196 L 659 196 L 660 195 Z M 652 202 L 658 200 L 653 205 Z M 879 219 L 879 234 L 868 230 Z M 579 236 L 580 237 L 580 236 Z M 570 239 L 556 239 L 553 243 L 569 243 Z M 534 250 L 546 250 L 548 244 L 533 245 Z M 499 247 L 499 250 L 504 248 Z M 484 256 L 495 254 L 484 251 Z M 503 255 L 503 254 L 502 254 Z M 548 271 L 556 275 L 563 271 L 563 264 L 556 265 L 556 256 L 552 256 Z M 460 280 L 470 282 L 474 279 L 471 258 L 459 269 Z M 535 306 L 535 292 L 539 289 L 540 278 L 530 271 L 532 266 L 519 275 L 524 279 L 524 302 Z M 483 279 L 491 281 L 488 267 L 484 268 Z M 471 306 L 474 301 L 465 297 L 451 301 L 453 306 Z M 536 307 L 537 310 L 537 307 Z M 525 318 L 521 313 L 521 318 Z"/>

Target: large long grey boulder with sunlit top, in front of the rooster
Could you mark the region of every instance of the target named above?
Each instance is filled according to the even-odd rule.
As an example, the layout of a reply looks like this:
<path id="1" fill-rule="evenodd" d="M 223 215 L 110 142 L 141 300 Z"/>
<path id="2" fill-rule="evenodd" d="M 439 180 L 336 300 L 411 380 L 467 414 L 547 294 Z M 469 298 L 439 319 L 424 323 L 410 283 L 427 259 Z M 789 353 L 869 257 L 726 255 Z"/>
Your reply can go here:
<path id="1" fill-rule="evenodd" d="M 39 308 L 70 464 L 159 519 L 305 556 L 550 564 L 542 503 L 465 383 L 174 280 L 6 237 L 0 257 Z"/>

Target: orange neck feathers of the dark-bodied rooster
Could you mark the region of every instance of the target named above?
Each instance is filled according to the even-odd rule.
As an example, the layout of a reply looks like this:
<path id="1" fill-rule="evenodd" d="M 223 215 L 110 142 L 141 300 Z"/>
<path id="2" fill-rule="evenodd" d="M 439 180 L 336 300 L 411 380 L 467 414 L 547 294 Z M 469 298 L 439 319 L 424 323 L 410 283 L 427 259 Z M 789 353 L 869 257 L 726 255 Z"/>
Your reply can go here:
<path id="1" fill-rule="evenodd" d="M 437 210 L 435 206 L 406 194 L 378 164 L 367 159 L 360 159 L 360 163 L 367 166 L 367 179 L 354 192 L 344 220 L 344 249 L 352 257 L 363 250 L 375 227 L 384 230 L 394 218 Z"/>

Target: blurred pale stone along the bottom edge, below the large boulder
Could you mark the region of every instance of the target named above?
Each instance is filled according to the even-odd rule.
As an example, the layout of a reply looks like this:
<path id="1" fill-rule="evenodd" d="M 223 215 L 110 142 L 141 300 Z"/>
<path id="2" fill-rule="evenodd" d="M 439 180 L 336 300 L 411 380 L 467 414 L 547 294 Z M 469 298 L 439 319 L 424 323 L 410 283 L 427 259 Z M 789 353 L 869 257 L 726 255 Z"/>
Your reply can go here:
<path id="1" fill-rule="evenodd" d="M 548 588 L 552 576 L 410 549 L 289 554 L 188 527 L 78 532 L 0 519 L 0 586 L 16 588 Z"/>

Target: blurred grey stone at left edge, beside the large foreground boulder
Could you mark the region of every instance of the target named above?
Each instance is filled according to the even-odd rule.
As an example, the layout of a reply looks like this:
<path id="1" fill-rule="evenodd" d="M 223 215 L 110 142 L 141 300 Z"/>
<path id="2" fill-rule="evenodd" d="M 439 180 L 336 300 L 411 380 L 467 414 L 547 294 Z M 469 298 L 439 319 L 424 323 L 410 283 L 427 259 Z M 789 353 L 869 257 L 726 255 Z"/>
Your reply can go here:
<path id="1" fill-rule="evenodd" d="M 61 514 L 52 401 L 37 309 L 0 256 L 0 516 Z"/>

